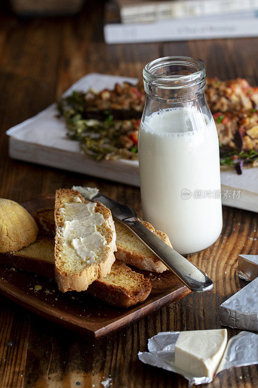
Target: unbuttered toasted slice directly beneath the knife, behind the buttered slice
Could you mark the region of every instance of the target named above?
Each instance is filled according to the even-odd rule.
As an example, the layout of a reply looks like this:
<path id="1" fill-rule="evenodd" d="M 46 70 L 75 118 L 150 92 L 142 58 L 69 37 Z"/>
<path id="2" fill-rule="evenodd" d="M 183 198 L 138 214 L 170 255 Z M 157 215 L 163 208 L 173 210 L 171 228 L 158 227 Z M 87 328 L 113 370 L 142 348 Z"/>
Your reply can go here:
<path id="1" fill-rule="evenodd" d="M 37 210 L 34 213 L 35 220 L 39 226 L 40 232 L 46 230 L 49 227 L 50 236 L 55 233 L 55 220 L 54 210 L 48 208 Z M 40 219 L 40 222 L 38 222 Z M 51 224 L 49 223 L 49 220 Z M 148 222 L 141 221 L 143 225 L 148 227 L 153 233 L 155 233 L 161 240 L 166 242 L 169 246 L 172 246 L 166 233 L 159 230 L 155 231 L 153 226 Z M 130 232 L 125 226 L 120 224 L 118 221 L 114 221 L 116 229 L 116 245 L 117 252 L 115 257 L 118 260 L 124 261 L 127 264 L 134 265 L 137 268 L 153 271 L 153 272 L 164 272 L 167 267 L 148 249 L 137 237 Z"/>

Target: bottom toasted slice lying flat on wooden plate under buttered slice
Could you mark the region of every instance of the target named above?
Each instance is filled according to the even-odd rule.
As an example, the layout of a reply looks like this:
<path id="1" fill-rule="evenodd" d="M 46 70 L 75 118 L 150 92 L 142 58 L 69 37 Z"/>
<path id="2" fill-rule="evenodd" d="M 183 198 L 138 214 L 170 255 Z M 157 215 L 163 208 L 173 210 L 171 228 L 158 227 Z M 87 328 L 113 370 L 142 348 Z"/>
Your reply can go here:
<path id="1" fill-rule="evenodd" d="M 16 252 L 0 254 L 0 264 L 55 279 L 55 240 L 38 237 Z M 116 260 L 106 277 L 95 280 L 86 292 L 115 307 L 131 307 L 145 301 L 152 289 L 149 279 Z"/>

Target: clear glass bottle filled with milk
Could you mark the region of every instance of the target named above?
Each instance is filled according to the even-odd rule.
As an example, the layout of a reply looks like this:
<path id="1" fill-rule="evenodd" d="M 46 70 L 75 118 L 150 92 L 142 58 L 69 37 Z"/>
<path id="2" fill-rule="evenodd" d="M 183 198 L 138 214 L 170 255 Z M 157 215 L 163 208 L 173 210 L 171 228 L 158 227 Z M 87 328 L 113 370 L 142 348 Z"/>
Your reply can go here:
<path id="1" fill-rule="evenodd" d="M 138 152 L 143 219 L 188 254 L 222 229 L 219 144 L 204 89 L 205 66 L 188 57 L 152 61 Z"/>

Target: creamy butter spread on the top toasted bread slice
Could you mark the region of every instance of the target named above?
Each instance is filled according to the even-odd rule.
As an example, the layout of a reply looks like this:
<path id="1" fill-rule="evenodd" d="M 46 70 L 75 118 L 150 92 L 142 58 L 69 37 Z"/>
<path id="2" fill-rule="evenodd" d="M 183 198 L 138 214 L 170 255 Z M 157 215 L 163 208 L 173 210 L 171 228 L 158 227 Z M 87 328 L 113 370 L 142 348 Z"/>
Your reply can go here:
<path id="1" fill-rule="evenodd" d="M 61 229 L 64 243 L 74 248 L 76 254 L 89 263 L 94 263 L 106 245 L 105 237 L 97 230 L 105 223 L 102 214 L 95 211 L 96 203 L 66 203 L 60 209 L 64 225 Z"/>

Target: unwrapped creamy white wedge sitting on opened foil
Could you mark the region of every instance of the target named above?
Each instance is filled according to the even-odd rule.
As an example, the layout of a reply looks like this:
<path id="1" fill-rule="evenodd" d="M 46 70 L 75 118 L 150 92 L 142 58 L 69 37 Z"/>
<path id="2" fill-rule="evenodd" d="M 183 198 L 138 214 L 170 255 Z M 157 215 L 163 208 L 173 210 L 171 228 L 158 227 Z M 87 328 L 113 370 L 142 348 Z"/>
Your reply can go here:
<path id="1" fill-rule="evenodd" d="M 212 379 L 227 340 L 226 329 L 182 331 L 175 344 L 175 365 L 195 377 Z"/>

